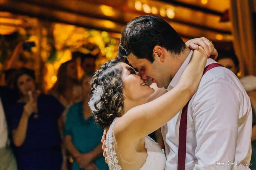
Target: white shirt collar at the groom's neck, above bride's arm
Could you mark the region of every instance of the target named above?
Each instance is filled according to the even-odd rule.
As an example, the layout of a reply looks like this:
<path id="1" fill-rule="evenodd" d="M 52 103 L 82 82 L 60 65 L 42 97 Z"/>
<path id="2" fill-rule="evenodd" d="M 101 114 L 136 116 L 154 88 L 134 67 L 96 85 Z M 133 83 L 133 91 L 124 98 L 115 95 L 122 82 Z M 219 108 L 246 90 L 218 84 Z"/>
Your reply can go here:
<path id="1" fill-rule="evenodd" d="M 179 68 L 178 72 L 173 77 L 172 81 L 170 82 L 170 84 L 167 87 L 168 91 L 170 91 L 172 88 L 174 88 L 178 84 L 179 79 L 181 78 L 182 73 L 184 72 L 186 66 L 188 65 L 193 52 L 194 52 L 193 50 L 190 51 L 190 53 L 188 54 L 188 57 L 186 57 L 186 60 L 183 62 L 183 64 Z"/>

